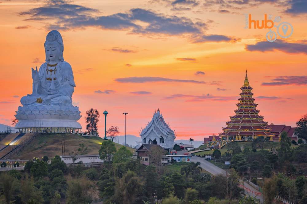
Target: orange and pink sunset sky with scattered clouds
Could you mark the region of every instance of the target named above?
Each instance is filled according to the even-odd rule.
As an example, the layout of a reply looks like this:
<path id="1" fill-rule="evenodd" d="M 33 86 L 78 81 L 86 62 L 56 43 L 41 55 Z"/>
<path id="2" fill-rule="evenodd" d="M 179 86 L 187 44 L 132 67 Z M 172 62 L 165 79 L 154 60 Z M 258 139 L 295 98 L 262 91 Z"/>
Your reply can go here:
<path id="1" fill-rule="evenodd" d="M 268 42 L 269 29 L 244 29 L 244 14 L 280 16 L 294 32 Z M 246 69 L 259 114 L 294 127 L 307 113 L 306 22 L 303 0 L 0 0 L 0 123 L 32 93 L 31 67 L 44 63 L 55 28 L 84 131 L 96 108 L 101 135 L 107 110 L 107 127 L 122 135 L 128 112 L 126 132 L 138 136 L 159 108 L 177 139 L 203 140 L 235 114 Z"/>

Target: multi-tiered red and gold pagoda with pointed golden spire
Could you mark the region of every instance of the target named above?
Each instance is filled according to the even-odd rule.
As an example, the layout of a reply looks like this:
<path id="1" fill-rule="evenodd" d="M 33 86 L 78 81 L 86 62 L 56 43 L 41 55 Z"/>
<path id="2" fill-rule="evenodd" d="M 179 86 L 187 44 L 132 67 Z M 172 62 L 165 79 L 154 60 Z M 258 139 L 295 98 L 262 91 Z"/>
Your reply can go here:
<path id="1" fill-rule="evenodd" d="M 230 121 L 226 122 L 227 127 L 223 128 L 223 133 L 220 134 L 222 139 L 229 140 L 251 140 L 259 136 L 272 140 L 274 136 L 267 127 L 267 122 L 263 121 L 263 116 L 259 116 L 258 106 L 253 98 L 253 89 L 247 79 L 247 71 L 243 86 L 240 88 L 239 103 L 236 104 L 238 109 L 235 110 L 235 116 L 230 117 Z"/>

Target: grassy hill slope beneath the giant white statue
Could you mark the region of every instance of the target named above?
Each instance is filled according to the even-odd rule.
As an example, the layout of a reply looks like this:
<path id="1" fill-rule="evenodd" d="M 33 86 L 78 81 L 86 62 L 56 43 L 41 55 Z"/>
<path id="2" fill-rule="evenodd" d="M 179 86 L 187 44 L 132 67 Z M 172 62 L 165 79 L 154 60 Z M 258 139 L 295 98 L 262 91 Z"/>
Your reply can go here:
<path id="1" fill-rule="evenodd" d="M 21 152 L 12 156 L 12 159 L 33 159 L 33 157 L 62 155 L 61 141 L 65 138 L 65 155 L 72 151 L 77 151 L 79 144 L 83 143 L 87 147 L 87 154 L 99 154 L 101 143 L 104 141 L 100 137 L 82 137 L 75 134 L 44 133 L 33 139 Z M 123 145 L 114 143 L 116 149 Z M 133 148 L 127 147 L 134 152 Z"/>

